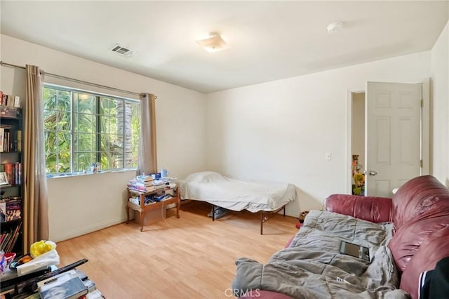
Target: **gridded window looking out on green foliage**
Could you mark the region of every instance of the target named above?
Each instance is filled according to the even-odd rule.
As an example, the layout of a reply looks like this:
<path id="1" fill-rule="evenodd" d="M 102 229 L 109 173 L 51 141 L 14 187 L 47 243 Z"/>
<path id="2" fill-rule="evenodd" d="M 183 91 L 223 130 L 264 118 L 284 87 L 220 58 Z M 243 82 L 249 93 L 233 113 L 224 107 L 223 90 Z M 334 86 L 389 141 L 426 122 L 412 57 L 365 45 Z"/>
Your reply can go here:
<path id="1" fill-rule="evenodd" d="M 45 84 L 43 103 L 48 174 L 137 167 L 138 100 Z"/>

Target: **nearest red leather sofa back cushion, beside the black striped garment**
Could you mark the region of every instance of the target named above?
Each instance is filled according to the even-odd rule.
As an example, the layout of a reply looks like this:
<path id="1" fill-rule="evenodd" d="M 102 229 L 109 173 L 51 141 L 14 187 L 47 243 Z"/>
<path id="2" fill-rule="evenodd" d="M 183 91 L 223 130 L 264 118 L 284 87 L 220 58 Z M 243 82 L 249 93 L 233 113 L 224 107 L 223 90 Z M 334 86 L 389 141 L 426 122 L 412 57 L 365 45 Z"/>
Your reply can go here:
<path id="1" fill-rule="evenodd" d="M 449 256 L 449 225 L 431 234 L 429 241 L 422 244 L 408 263 L 401 277 L 400 288 L 412 298 L 418 298 L 420 274 L 434 269 L 438 260 Z"/>

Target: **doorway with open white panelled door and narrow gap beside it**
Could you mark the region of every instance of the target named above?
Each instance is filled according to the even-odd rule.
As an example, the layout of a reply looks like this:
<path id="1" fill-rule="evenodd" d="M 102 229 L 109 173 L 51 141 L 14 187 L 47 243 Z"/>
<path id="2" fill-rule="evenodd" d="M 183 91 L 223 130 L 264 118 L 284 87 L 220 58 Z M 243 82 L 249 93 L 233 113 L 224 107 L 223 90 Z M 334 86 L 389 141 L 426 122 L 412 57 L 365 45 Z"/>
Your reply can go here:
<path id="1" fill-rule="evenodd" d="M 350 93 L 349 192 L 392 197 L 407 180 L 429 173 L 429 81 L 368 82 L 366 91 Z"/>

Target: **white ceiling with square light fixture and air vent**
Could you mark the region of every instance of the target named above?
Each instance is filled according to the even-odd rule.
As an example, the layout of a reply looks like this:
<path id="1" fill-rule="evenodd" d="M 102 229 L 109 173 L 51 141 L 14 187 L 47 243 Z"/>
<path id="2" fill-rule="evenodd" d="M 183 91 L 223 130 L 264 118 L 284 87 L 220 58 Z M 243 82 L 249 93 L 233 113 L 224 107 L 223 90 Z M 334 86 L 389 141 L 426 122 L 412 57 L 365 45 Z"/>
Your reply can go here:
<path id="1" fill-rule="evenodd" d="M 1 33 L 210 93 L 428 51 L 448 2 L 1 0 Z M 230 48 L 204 51 L 195 40 L 209 32 Z"/>

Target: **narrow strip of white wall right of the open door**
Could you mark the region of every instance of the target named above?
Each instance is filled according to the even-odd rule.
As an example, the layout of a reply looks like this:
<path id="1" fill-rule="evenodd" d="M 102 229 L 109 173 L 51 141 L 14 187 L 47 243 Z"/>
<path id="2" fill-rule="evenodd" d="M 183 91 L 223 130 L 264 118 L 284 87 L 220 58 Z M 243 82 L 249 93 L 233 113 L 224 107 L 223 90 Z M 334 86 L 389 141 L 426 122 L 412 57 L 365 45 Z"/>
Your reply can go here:
<path id="1" fill-rule="evenodd" d="M 449 22 L 431 51 L 431 173 L 449 187 Z"/>

